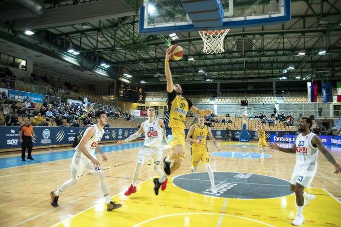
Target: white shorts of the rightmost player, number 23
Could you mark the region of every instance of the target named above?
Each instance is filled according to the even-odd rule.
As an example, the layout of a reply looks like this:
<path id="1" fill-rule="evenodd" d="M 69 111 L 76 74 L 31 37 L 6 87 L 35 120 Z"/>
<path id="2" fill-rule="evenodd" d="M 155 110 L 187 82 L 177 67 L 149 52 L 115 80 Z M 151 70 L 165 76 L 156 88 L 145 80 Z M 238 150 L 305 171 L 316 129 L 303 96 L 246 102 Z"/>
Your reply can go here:
<path id="1" fill-rule="evenodd" d="M 290 183 L 299 183 L 303 187 L 309 187 L 312 179 L 314 178 L 317 171 L 317 162 L 307 164 L 295 165 L 294 171 L 292 172 Z"/>

